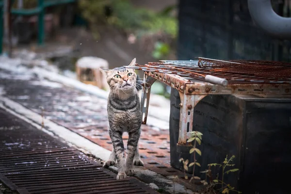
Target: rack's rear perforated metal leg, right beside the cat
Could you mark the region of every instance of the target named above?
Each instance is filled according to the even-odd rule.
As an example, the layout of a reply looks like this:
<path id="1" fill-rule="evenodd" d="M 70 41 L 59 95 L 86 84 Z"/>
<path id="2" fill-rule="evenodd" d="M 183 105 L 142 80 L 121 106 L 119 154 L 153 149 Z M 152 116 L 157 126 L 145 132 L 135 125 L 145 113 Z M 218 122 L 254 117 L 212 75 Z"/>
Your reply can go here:
<path id="1" fill-rule="evenodd" d="M 146 118 L 149 105 L 150 88 L 156 79 L 144 74 L 144 89 L 142 93 L 141 106 L 142 106 L 142 124 L 146 125 Z"/>

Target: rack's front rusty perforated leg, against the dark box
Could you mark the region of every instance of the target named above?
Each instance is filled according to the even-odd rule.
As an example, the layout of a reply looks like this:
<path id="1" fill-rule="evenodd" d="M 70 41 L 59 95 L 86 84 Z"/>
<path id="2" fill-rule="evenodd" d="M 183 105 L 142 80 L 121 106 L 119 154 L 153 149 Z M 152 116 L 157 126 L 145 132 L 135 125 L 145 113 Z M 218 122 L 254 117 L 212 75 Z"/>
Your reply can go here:
<path id="1" fill-rule="evenodd" d="M 196 104 L 207 95 L 186 95 L 179 92 L 181 98 L 180 104 L 180 125 L 179 125 L 179 140 L 178 146 L 189 146 L 187 139 L 191 137 L 193 128 L 194 107 Z"/>

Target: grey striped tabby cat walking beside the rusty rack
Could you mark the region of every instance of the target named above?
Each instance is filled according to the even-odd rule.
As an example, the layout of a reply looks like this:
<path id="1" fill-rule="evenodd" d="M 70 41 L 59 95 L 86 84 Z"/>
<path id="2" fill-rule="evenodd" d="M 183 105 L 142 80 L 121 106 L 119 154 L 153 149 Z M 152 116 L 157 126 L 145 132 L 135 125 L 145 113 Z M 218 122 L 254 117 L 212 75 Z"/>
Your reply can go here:
<path id="1" fill-rule="evenodd" d="M 136 59 L 134 58 L 129 66 L 134 66 L 135 62 Z M 117 179 L 122 179 L 134 175 L 133 164 L 144 165 L 137 145 L 142 124 L 138 90 L 142 89 L 142 85 L 134 69 L 116 67 L 103 71 L 110 86 L 107 112 L 109 135 L 113 143 L 113 150 L 109 160 L 104 162 L 103 167 L 107 168 L 114 165 L 116 159 L 118 165 Z M 122 140 L 123 132 L 128 132 L 129 134 L 126 159 Z"/>

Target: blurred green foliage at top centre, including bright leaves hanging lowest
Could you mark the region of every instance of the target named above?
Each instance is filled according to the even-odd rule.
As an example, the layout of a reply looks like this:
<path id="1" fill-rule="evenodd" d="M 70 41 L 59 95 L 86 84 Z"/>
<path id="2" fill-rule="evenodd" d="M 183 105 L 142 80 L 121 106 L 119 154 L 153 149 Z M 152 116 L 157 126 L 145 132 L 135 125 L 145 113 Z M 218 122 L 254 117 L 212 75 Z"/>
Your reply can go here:
<path id="1" fill-rule="evenodd" d="M 82 16 L 89 22 L 95 38 L 100 38 L 98 25 L 115 26 L 127 34 L 134 33 L 157 60 L 166 57 L 173 49 L 171 43 L 178 34 L 178 19 L 171 14 L 176 7 L 171 5 L 156 13 L 136 8 L 129 0 L 79 1 Z"/>

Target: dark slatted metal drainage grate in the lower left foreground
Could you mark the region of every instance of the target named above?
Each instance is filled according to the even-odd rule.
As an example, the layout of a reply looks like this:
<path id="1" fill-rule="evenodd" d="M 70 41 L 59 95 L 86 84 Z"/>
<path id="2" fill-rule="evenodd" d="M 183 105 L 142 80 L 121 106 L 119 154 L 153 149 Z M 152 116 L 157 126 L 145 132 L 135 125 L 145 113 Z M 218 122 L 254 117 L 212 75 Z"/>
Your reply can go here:
<path id="1" fill-rule="evenodd" d="M 0 109 L 0 180 L 19 194 L 156 194 Z"/>

